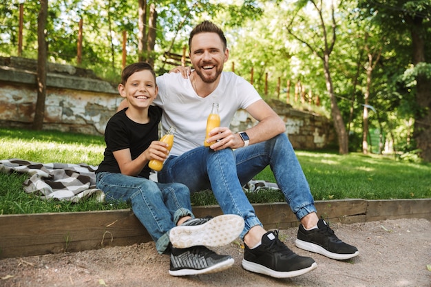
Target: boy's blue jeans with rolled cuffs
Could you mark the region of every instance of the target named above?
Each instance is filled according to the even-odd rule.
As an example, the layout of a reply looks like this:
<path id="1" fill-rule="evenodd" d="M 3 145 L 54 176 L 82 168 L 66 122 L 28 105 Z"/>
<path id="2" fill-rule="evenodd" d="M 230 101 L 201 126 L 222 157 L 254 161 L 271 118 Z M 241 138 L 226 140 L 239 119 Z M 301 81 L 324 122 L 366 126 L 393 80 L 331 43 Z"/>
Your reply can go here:
<path id="1" fill-rule="evenodd" d="M 132 210 L 156 242 L 158 253 L 169 245 L 169 231 L 191 213 L 189 189 L 180 183 L 162 184 L 121 173 L 96 174 L 96 188 L 109 200 L 132 203 Z"/>

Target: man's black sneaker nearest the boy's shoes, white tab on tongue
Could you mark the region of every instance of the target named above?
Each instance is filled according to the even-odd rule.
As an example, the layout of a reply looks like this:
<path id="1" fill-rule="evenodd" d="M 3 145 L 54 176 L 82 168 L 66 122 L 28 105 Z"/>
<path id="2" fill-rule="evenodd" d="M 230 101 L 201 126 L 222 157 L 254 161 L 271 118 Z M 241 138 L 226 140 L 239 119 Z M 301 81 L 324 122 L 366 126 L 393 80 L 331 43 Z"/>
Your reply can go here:
<path id="1" fill-rule="evenodd" d="M 278 239 L 277 231 L 269 231 L 262 237 L 262 244 L 250 249 L 244 244 L 242 267 L 255 273 L 276 278 L 295 277 L 317 267 L 310 257 L 299 256 Z"/>

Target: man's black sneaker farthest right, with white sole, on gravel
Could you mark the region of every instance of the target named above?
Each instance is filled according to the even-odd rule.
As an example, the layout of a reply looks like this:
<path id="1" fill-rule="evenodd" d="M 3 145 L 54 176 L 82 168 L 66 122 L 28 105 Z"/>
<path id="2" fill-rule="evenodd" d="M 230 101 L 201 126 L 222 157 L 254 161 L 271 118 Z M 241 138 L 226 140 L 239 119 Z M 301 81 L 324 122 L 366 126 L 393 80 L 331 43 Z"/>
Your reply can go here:
<path id="1" fill-rule="evenodd" d="M 339 240 L 324 220 L 320 219 L 317 222 L 317 227 L 306 231 L 304 226 L 300 224 L 295 245 L 304 250 L 338 260 L 350 259 L 359 255 L 357 248 Z"/>

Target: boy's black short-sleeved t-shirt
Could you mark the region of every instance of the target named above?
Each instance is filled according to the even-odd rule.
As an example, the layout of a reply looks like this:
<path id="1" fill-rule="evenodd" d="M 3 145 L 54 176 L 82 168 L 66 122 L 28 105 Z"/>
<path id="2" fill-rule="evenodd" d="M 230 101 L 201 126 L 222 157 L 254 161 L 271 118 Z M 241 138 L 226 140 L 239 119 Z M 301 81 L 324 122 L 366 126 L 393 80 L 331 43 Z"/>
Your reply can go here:
<path id="1" fill-rule="evenodd" d="M 118 162 L 114 158 L 114 151 L 130 149 L 132 160 L 149 147 L 153 140 L 158 140 L 158 123 L 162 116 L 160 107 L 150 106 L 148 109 L 149 123 L 139 124 L 126 116 L 123 109 L 109 119 L 105 129 L 106 149 L 103 161 L 99 164 L 96 173 L 107 171 L 121 173 Z M 145 165 L 138 176 L 149 178 L 151 169 Z"/>

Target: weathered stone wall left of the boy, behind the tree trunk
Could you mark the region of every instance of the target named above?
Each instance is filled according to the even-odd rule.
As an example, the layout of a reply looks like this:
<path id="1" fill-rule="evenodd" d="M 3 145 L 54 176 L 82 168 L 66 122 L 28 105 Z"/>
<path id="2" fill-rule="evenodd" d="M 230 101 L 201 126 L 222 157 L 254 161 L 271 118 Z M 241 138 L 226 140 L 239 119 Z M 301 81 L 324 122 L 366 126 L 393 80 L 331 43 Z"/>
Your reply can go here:
<path id="1" fill-rule="evenodd" d="M 34 64 L 28 59 L 0 59 L 1 126 L 31 126 L 37 98 Z M 50 64 L 43 129 L 103 135 L 121 100 L 116 87 L 91 71 Z"/>

